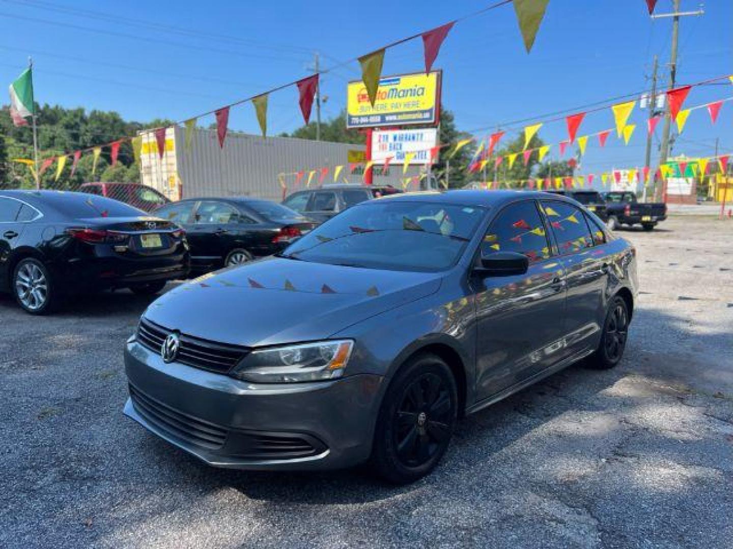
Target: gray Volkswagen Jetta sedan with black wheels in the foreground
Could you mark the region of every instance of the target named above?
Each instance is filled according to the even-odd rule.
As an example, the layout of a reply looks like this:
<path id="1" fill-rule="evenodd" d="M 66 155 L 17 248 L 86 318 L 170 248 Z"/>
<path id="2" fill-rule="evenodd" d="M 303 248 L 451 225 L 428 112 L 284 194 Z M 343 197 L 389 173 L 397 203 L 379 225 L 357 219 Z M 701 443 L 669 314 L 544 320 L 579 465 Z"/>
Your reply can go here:
<path id="1" fill-rule="evenodd" d="M 636 294 L 636 250 L 570 198 L 380 198 L 153 302 L 125 414 L 213 466 L 412 482 L 465 414 L 616 365 Z"/>

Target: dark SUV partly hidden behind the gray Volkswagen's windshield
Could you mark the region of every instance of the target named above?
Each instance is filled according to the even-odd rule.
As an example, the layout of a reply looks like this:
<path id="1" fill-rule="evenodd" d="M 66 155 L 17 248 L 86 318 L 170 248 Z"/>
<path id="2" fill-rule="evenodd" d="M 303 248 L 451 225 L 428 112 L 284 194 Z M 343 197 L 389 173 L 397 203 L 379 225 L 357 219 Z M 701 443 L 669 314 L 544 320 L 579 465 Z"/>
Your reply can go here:
<path id="1" fill-rule="evenodd" d="M 323 223 L 351 206 L 375 198 L 375 193 L 380 193 L 380 190 L 385 188 L 361 187 L 358 185 L 326 185 L 320 188 L 296 191 L 285 198 L 283 205 L 310 217 L 312 220 Z M 389 188 L 394 189 L 394 187 Z"/>

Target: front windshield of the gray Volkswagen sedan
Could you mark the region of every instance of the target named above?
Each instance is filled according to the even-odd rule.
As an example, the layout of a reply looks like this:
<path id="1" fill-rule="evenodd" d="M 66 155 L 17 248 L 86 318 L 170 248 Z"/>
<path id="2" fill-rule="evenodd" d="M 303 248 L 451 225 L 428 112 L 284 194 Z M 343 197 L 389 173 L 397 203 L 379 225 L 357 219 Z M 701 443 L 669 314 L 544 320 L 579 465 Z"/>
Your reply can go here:
<path id="1" fill-rule="evenodd" d="M 367 269 L 437 272 L 458 261 L 485 213 L 476 206 L 369 201 L 320 225 L 281 256 Z"/>

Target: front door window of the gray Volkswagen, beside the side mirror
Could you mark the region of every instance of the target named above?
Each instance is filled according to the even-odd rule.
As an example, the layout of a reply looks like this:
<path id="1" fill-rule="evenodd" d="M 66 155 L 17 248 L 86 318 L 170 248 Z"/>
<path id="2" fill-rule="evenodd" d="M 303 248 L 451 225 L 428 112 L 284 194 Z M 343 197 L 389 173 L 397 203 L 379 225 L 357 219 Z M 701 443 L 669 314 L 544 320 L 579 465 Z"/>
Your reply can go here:
<path id="1" fill-rule="evenodd" d="M 530 263 L 550 257 L 545 225 L 534 201 L 511 204 L 493 220 L 482 242 L 482 255 L 496 252 L 521 253 Z"/>

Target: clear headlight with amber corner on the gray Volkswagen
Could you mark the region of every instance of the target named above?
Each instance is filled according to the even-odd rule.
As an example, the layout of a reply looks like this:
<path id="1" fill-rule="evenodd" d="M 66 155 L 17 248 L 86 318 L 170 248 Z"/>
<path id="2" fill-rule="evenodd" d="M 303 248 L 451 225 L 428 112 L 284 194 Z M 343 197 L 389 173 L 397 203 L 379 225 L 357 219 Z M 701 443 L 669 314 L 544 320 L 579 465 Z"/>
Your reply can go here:
<path id="1" fill-rule="evenodd" d="M 353 343 L 351 340 L 319 341 L 252 351 L 232 375 L 255 383 L 339 378 L 349 362 Z"/>

